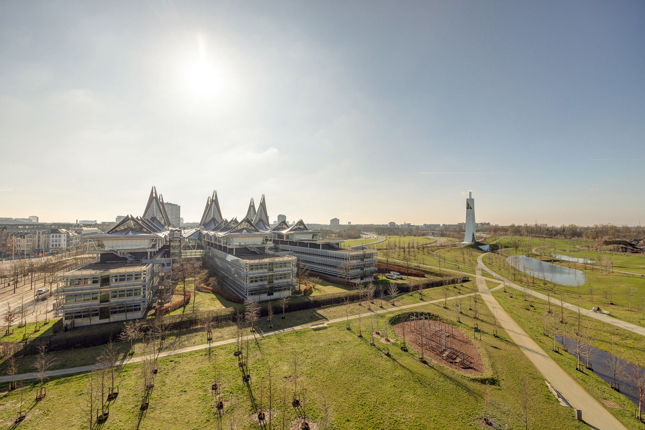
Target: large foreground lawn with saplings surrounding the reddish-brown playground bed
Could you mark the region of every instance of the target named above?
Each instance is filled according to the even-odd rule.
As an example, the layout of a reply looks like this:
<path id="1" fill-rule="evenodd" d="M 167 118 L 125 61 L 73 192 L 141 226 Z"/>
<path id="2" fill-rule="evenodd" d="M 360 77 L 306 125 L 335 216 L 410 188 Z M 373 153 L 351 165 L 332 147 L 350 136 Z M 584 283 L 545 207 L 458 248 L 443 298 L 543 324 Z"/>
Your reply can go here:
<path id="1" fill-rule="evenodd" d="M 454 320 L 454 313 L 441 306 L 425 306 L 425 311 Z M 272 372 L 273 425 L 280 428 L 284 420 L 291 427 L 296 416 L 290 401 L 295 385 L 293 357 L 297 357 L 298 396 L 310 422 L 328 418 L 331 428 L 339 429 L 470 429 L 481 427 L 485 409 L 499 428 L 522 427 L 519 399 L 522 381 L 528 382 L 529 424 L 531 428 L 583 429 L 573 419 L 571 409 L 559 406 L 548 392 L 541 375 L 521 351 L 504 336 L 490 333 L 490 314 L 481 309 L 482 340 L 475 340 L 482 357 L 498 385 L 486 386 L 477 378 L 442 364 L 423 364 L 414 352 L 404 352 L 392 345 L 391 356 L 386 345 L 370 346 L 368 318 L 362 319 L 364 337 L 356 336 L 357 320 L 352 330 L 344 322 L 326 329 L 303 329 L 250 343 L 249 384 L 244 384 L 233 345 L 184 353 L 158 360 L 159 373 L 145 413 L 139 413 L 141 402 L 141 365 L 125 366 L 118 377 L 119 396 L 110 405 L 103 429 L 210 429 L 217 427 L 217 411 L 210 395 L 214 377 L 215 356 L 223 388 L 223 424 L 233 422 L 238 429 L 257 428 L 257 407 L 262 402 L 268 418 L 268 369 Z M 382 330 L 384 317 L 374 317 Z M 456 323 L 455 323 L 456 324 Z M 462 316 L 464 332 L 472 321 Z M 392 335 L 391 335 L 392 336 Z M 395 342 L 398 342 L 395 339 Z M 47 396 L 34 404 L 35 382 L 26 386 L 27 417 L 23 429 L 87 427 L 86 416 L 79 409 L 86 399 L 88 375 L 52 378 L 47 382 Z M 262 395 L 260 394 L 262 391 Z M 284 393 L 284 394 L 283 394 Z M 286 406 L 283 406 L 283 396 Z M 3 397 L 0 423 L 10 425 L 17 406 L 18 393 Z M 324 398 L 324 400 L 323 400 Z M 323 403 L 327 406 L 327 413 Z M 181 407 L 177 407 L 180 405 Z"/>

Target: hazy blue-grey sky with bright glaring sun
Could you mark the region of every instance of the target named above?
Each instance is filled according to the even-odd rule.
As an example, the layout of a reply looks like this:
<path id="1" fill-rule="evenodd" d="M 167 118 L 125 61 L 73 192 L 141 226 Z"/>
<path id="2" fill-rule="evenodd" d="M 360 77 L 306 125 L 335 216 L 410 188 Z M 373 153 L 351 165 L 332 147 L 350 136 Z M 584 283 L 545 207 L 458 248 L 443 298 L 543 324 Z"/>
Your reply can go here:
<path id="1" fill-rule="evenodd" d="M 645 2 L 0 3 L 0 217 L 645 222 Z"/>

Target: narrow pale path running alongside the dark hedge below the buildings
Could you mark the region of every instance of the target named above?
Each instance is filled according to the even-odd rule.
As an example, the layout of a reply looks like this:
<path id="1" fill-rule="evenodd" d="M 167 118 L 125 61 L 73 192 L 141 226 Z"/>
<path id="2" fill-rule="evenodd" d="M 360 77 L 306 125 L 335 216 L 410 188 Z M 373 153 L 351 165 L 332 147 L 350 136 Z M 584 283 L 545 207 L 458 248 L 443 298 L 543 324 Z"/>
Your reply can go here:
<path id="1" fill-rule="evenodd" d="M 495 290 L 497 290 L 499 288 L 502 288 L 502 286 L 500 285 L 499 287 L 493 288 L 490 291 L 495 291 Z M 454 300 L 455 298 L 469 297 L 469 296 L 475 295 L 475 294 L 477 294 L 477 293 L 473 292 L 473 293 L 468 293 L 468 294 L 457 295 L 457 296 L 453 296 L 453 297 L 448 297 L 448 300 Z M 406 305 L 403 305 L 403 306 L 393 306 L 392 308 L 388 308 L 388 309 L 372 310 L 372 311 L 364 312 L 364 313 L 361 313 L 361 314 L 350 315 L 349 317 L 339 317 L 339 318 L 333 318 L 331 320 L 318 320 L 318 321 L 314 321 L 314 322 L 308 322 L 307 324 L 300 324 L 298 326 L 286 327 L 286 328 L 283 328 L 283 329 L 267 331 L 265 333 L 256 332 L 255 335 L 248 335 L 248 336 L 244 337 L 244 340 L 246 340 L 247 338 L 253 339 L 255 337 L 264 338 L 264 337 L 280 335 L 282 333 L 288 333 L 290 331 L 296 331 L 296 330 L 310 328 L 310 327 L 312 327 L 312 325 L 317 325 L 317 324 L 323 324 L 323 323 L 324 324 L 333 324 L 335 322 L 342 322 L 342 321 L 344 321 L 346 319 L 354 320 L 354 319 L 357 319 L 359 317 L 359 315 L 361 316 L 361 318 L 370 317 L 371 315 L 375 315 L 375 314 L 376 315 L 381 315 L 381 314 L 389 313 L 389 312 L 393 312 L 393 311 L 401 311 L 401 310 L 404 310 L 404 309 L 413 309 L 413 308 L 417 308 L 418 306 L 424 306 L 426 304 L 439 303 L 439 302 L 443 302 L 443 301 L 444 301 L 444 298 L 437 298 L 435 300 L 428 300 L 428 301 L 425 301 L 425 302 L 406 304 Z M 170 355 L 189 353 L 189 352 L 192 352 L 192 351 L 199 351 L 200 349 L 206 349 L 208 347 L 216 347 L 216 346 L 228 345 L 228 344 L 235 343 L 236 340 L 237 340 L 237 338 L 233 337 L 233 338 L 224 339 L 224 340 L 217 340 L 216 342 L 211 342 L 210 345 L 209 344 L 201 344 L 201 345 L 186 346 L 186 347 L 183 347 L 183 348 L 171 349 L 169 351 L 161 351 L 161 353 L 159 353 L 159 355 L 157 355 L 157 357 L 168 357 Z M 128 360 L 127 358 L 123 358 L 122 360 L 119 360 L 118 362 L 116 362 L 116 364 L 118 366 L 123 366 L 125 364 L 134 364 L 134 363 L 138 363 L 138 362 L 143 361 L 145 358 L 146 358 L 146 356 L 143 356 L 143 355 L 130 358 L 130 360 Z M 88 372 L 88 371 L 91 371 L 91 370 L 97 369 L 97 368 L 98 368 L 98 366 L 95 365 L 95 364 L 89 364 L 87 366 L 67 367 L 65 369 L 55 369 L 55 370 L 49 371 L 47 373 L 47 376 L 51 377 L 51 376 L 70 375 L 72 373 L 83 373 L 83 372 Z M 15 380 L 26 380 L 26 379 L 35 379 L 37 377 L 38 376 L 35 373 L 20 373 L 18 375 L 15 375 L 14 379 Z M 0 376 L 0 382 L 9 382 L 10 380 L 12 380 L 12 377 L 9 376 L 9 375 Z"/>

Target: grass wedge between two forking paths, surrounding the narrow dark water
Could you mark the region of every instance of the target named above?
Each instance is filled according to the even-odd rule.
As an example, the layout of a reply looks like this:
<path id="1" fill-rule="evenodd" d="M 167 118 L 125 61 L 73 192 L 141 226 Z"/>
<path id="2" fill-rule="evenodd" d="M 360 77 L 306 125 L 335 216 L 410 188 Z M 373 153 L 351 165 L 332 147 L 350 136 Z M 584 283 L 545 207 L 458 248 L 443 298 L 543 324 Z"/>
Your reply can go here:
<path id="1" fill-rule="evenodd" d="M 512 291 L 512 290 L 511 290 Z M 527 311 L 524 306 L 522 295 L 517 291 L 513 291 L 513 297 L 509 297 L 509 293 L 504 293 L 502 290 L 493 292 L 493 296 L 497 298 L 502 308 L 519 324 L 526 333 L 537 342 L 539 346 L 544 349 L 544 352 L 549 355 L 557 364 L 559 364 L 566 373 L 568 373 L 574 380 L 576 380 L 591 396 L 596 398 L 602 403 L 602 400 L 608 400 L 617 404 L 622 409 L 613 409 L 608 407 L 611 412 L 622 424 L 628 429 L 645 429 L 645 424 L 639 424 L 633 418 L 634 404 L 625 396 L 617 393 L 609 384 L 604 382 L 599 376 L 595 375 L 592 371 L 584 370 L 584 372 L 575 369 L 576 358 L 565 351 L 561 353 L 553 352 L 553 335 L 549 333 L 548 336 L 544 335 L 544 324 L 542 322 L 542 313 L 548 309 L 548 303 L 545 300 L 533 299 L 535 308 Z M 551 305 L 553 314 L 559 320 L 561 317 L 562 309 L 558 306 Z M 564 309 L 564 317 L 566 318 L 567 337 L 574 337 L 573 332 L 577 331 L 577 313 Z M 562 324 L 558 323 L 559 327 Z M 624 358 L 630 362 L 635 362 L 637 359 L 640 362 L 645 362 L 645 344 L 642 337 L 631 331 L 626 331 L 618 327 L 610 326 L 604 322 L 599 322 L 593 318 L 581 317 L 581 327 L 590 327 L 592 346 L 602 349 L 604 351 L 612 351 L 618 357 Z M 615 342 L 612 348 L 612 342 Z M 593 358 L 591 359 L 593 363 Z M 583 367 L 584 368 L 584 367 Z M 556 387 L 557 388 L 557 387 Z"/>

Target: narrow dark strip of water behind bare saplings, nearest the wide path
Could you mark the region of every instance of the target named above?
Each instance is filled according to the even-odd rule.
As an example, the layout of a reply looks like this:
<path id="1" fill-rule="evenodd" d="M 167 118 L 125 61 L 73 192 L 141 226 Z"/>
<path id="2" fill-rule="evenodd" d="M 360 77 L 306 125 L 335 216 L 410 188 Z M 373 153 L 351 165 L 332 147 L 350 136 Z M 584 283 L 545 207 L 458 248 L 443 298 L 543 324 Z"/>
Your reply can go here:
<path id="1" fill-rule="evenodd" d="M 564 339 L 566 340 L 568 353 L 575 357 L 577 355 L 575 351 L 576 341 L 568 337 L 565 337 Z M 562 345 L 561 336 L 556 336 L 555 340 L 557 340 L 558 343 Z M 617 384 L 619 384 L 620 394 L 626 396 L 636 406 L 639 406 L 639 388 L 630 381 L 630 375 L 633 375 L 635 373 L 634 365 L 628 361 L 623 360 L 622 358 L 615 357 L 615 355 L 611 355 L 606 351 L 602 351 L 602 349 L 581 343 L 581 349 L 582 351 L 585 351 L 585 354 L 581 353 L 580 356 L 580 361 L 582 362 L 583 366 L 587 362 L 587 348 L 589 348 L 590 350 L 589 360 L 591 362 L 591 367 L 593 367 L 593 373 L 600 376 L 600 378 L 602 378 L 602 380 L 604 380 L 604 382 L 606 382 L 607 384 L 611 384 L 611 382 L 613 382 L 613 371 L 611 371 L 613 366 L 610 364 L 612 357 L 616 360 L 617 364 L 615 367 L 617 367 L 617 369 L 620 368 L 620 372 L 617 372 L 616 375 L 616 382 Z M 643 369 L 642 367 L 640 369 L 642 372 L 645 372 L 645 369 Z"/>

